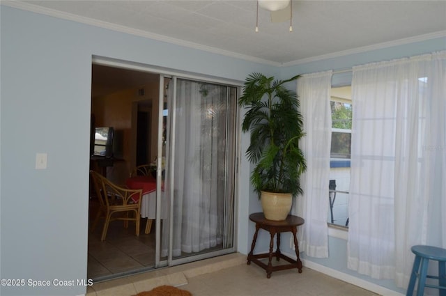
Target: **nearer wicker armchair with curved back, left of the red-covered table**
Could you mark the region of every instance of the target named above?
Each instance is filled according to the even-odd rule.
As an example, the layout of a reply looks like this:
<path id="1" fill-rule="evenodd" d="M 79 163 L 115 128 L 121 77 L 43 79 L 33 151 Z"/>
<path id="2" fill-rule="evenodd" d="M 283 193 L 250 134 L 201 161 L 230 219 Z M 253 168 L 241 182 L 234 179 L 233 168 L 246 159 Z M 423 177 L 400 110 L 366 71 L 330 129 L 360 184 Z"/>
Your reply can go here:
<path id="1" fill-rule="evenodd" d="M 119 187 L 95 171 L 90 171 L 90 174 L 93 178 L 93 185 L 100 203 L 98 214 L 91 226 L 91 231 L 94 230 L 99 219 L 105 217 L 104 228 L 102 228 L 102 236 L 100 238 L 101 241 L 105 240 L 109 223 L 114 220 L 123 220 L 125 228 L 128 227 L 128 221 L 135 221 L 136 235 L 139 236 L 139 221 L 141 218 L 139 212 L 141 208 L 142 189 Z M 131 212 L 134 215 L 129 215 Z"/>

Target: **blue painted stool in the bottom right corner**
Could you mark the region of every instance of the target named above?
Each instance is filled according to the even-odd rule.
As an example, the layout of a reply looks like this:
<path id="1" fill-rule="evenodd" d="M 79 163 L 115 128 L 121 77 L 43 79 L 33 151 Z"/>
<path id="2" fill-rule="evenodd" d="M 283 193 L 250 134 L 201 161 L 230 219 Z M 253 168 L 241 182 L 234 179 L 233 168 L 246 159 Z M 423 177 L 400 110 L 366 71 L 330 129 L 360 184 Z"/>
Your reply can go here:
<path id="1" fill-rule="evenodd" d="M 424 287 L 440 289 L 440 296 L 446 296 L 446 249 L 431 246 L 413 246 L 410 250 L 415 254 L 415 260 L 413 261 L 412 274 L 410 275 L 406 296 L 413 295 L 413 288 L 415 288 L 417 278 L 417 296 L 423 295 Z M 429 260 L 438 261 L 438 276 L 427 275 Z M 438 279 L 438 286 L 427 284 L 426 278 Z"/>

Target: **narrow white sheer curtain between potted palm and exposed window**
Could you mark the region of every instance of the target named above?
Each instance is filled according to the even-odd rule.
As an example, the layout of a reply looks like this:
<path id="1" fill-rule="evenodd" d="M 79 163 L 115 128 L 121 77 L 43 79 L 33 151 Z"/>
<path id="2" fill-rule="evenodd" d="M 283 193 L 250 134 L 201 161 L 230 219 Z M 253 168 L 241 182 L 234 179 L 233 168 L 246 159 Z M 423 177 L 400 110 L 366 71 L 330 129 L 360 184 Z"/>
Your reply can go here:
<path id="1" fill-rule="evenodd" d="M 302 150 L 307 172 L 301 177 L 304 194 L 298 196 L 293 212 L 305 219 L 300 227 L 299 250 L 307 256 L 328 257 L 328 180 L 330 178 L 332 71 L 302 75 L 298 79 L 300 109 L 305 137 Z"/>

